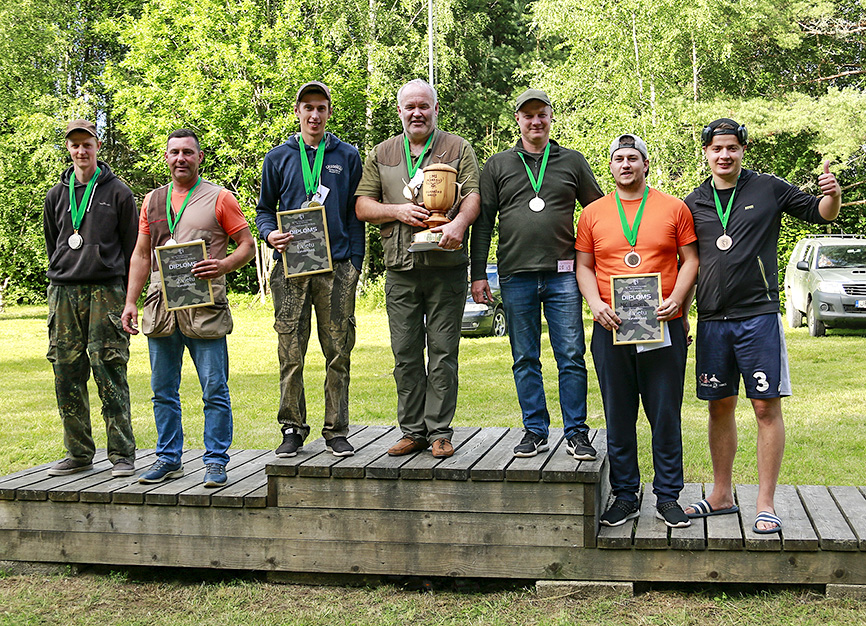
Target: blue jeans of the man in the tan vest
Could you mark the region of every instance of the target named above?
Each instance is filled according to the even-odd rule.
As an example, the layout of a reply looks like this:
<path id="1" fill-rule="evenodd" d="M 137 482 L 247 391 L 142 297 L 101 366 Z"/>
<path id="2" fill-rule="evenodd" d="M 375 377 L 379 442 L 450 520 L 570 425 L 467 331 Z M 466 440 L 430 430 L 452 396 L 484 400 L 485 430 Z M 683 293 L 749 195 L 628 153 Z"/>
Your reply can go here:
<path id="1" fill-rule="evenodd" d="M 189 349 L 198 372 L 204 400 L 205 463 L 227 465 L 232 443 L 232 405 L 229 398 L 229 354 L 225 337 L 192 339 L 175 330 L 168 337 L 148 337 L 150 386 L 156 421 L 156 454 L 169 463 L 180 463 L 183 425 L 180 414 L 180 371 L 184 347 Z"/>

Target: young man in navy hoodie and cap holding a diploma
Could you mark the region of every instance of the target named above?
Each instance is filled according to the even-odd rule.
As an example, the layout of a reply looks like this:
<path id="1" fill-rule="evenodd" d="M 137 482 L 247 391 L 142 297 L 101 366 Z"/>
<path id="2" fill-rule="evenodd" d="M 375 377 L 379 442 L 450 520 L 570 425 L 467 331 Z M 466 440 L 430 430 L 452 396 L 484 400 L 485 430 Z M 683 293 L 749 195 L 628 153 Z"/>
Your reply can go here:
<path id="1" fill-rule="evenodd" d="M 280 259 L 292 235 L 281 233 L 277 212 L 324 205 L 333 271 L 286 278 L 278 261 L 271 293 L 280 359 L 277 421 L 283 441 L 277 456 L 295 456 L 310 432 L 304 398 L 304 357 L 316 308 L 319 343 L 325 355 L 325 420 L 322 436 L 336 456 L 351 456 L 349 434 L 349 355 L 355 345 L 355 288 L 364 259 L 364 225 L 355 215 L 355 189 L 361 179 L 358 151 L 325 132 L 331 92 L 320 82 L 302 85 L 295 98 L 301 132 L 265 156 L 256 226 Z"/>

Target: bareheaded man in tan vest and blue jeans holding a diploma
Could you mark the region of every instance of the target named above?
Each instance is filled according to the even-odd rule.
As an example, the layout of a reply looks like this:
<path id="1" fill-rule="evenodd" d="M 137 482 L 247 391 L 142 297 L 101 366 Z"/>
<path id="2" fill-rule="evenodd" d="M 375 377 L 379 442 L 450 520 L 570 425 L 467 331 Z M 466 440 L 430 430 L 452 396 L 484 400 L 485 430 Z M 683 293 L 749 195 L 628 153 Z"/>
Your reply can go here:
<path id="1" fill-rule="evenodd" d="M 150 352 L 157 460 L 138 477 L 140 483 L 183 476 L 179 388 L 185 348 L 195 364 L 204 400 L 204 486 L 221 487 L 228 480 L 232 407 L 226 335 L 232 331 L 232 318 L 225 274 L 253 258 L 255 242 L 231 192 L 199 176 L 203 159 L 204 152 L 193 131 L 182 128 L 168 136 L 165 161 L 171 171 L 171 183 L 144 198 L 138 240 L 130 262 L 121 321 L 124 330 L 133 335 L 138 334 L 136 301 L 150 274 L 142 331 L 147 335 Z M 237 243 L 231 254 L 227 254 L 229 238 Z M 193 265 L 191 272 L 196 278 L 212 281 L 214 304 L 168 311 L 154 250 L 157 246 L 197 239 L 204 240 L 207 258 Z"/>

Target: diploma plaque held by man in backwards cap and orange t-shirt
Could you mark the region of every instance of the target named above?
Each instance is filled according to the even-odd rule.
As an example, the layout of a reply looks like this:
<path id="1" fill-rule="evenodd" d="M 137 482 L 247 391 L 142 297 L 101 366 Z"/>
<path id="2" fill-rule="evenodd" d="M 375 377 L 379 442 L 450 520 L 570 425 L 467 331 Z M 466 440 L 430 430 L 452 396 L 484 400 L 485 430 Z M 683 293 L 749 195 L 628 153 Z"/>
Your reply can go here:
<path id="1" fill-rule="evenodd" d="M 622 320 L 614 345 L 664 341 L 664 322 L 657 309 L 662 301 L 661 274 L 621 274 L 610 277 L 614 313 Z"/>

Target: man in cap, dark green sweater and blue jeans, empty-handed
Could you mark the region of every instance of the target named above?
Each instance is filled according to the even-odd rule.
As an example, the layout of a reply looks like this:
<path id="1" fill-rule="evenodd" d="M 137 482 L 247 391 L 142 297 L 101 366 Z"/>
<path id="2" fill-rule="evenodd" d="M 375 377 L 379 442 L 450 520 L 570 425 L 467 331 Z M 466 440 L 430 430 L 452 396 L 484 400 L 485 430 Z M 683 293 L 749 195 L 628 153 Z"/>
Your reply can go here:
<path id="1" fill-rule="evenodd" d="M 481 174 L 481 215 L 470 240 L 472 297 L 491 302 L 487 255 L 499 218 L 500 286 L 514 359 L 512 371 L 526 429 L 515 456 L 548 449 L 550 415 L 541 377 L 541 311 L 559 370 L 566 450 L 595 458 L 586 425 L 586 351 L 582 302 L 574 270 L 574 211 L 602 196 L 582 154 L 550 139 L 550 98 L 528 89 L 514 117 L 520 139 L 494 154 Z"/>

